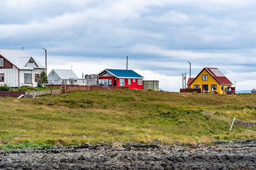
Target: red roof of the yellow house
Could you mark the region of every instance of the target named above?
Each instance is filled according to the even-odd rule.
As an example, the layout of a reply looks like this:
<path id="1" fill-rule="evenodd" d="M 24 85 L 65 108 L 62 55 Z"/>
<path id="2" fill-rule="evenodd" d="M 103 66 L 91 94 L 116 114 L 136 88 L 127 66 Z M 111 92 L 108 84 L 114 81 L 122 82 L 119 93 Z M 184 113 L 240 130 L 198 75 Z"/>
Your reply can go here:
<path id="1" fill-rule="evenodd" d="M 203 70 L 206 69 L 206 71 L 216 80 L 218 81 L 219 84 L 232 84 L 231 81 L 229 81 L 229 79 L 227 77 L 224 76 L 224 74 L 222 74 L 222 72 L 220 72 L 220 70 L 218 68 L 208 68 L 205 67 L 202 69 L 201 72 L 203 72 Z M 201 72 L 199 74 L 201 74 Z M 198 75 L 199 75 L 198 74 Z M 198 77 L 198 76 L 197 76 Z M 196 78 L 197 78 L 196 77 Z M 187 85 L 189 86 L 194 79 L 196 78 L 189 78 L 188 79 L 188 83 Z"/>

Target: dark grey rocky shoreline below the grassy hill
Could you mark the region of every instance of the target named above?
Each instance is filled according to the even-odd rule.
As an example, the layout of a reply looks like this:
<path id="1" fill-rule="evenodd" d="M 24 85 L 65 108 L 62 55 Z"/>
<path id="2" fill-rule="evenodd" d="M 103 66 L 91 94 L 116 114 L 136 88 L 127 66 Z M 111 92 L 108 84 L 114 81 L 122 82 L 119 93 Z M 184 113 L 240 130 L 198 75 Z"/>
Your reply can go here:
<path id="1" fill-rule="evenodd" d="M 256 141 L 1 150 L 0 169 L 256 169 Z"/>

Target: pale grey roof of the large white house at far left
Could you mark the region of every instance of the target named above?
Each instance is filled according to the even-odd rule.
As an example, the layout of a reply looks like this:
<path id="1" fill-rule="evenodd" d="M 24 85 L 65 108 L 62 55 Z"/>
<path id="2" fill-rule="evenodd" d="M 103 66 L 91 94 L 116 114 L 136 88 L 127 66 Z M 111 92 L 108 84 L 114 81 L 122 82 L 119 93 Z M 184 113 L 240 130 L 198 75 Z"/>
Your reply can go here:
<path id="1" fill-rule="evenodd" d="M 9 62 L 11 62 L 11 64 L 14 64 L 14 66 L 17 67 L 18 69 L 34 69 L 34 68 L 45 69 L 46 68 L 40 62 L 34 59 L 33 60 L 38 67 L 34 67 L 34 68 L 26 67 L 28 60 L 30 60 L 33 57 L 31 57 L 31 55 L 28 55 L 28 53 L 23 50 L 0 49 L 0 55 L 6 58 L 6 60 L 8 60 Z"/>

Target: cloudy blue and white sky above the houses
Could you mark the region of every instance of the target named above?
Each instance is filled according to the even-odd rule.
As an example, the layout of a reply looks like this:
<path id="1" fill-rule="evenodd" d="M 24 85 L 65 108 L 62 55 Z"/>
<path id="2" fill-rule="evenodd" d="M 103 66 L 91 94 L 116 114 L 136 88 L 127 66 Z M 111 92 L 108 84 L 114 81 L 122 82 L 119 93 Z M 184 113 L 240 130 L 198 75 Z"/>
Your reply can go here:
<path id="1" fill-rule="evenodd" d="M 204 67 L 237 91 L 256 88 L 255 0 L 1 0 L 0 48 L 26 50 L 51 69 L 128 68 L 164 91 Z"/>

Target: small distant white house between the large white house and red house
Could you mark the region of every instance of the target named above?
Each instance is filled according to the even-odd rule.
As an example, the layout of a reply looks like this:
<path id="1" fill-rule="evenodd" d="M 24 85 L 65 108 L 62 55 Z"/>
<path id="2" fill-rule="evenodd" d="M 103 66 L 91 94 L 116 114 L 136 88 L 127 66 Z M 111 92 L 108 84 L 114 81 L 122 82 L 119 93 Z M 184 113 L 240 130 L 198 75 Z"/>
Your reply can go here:
<path id="1" fill-rule="evenodd" d="M 53 69 L 48 74 L 48 84 L 85 85 L 85 79 L 78 79 L 71 69 Z"/>

